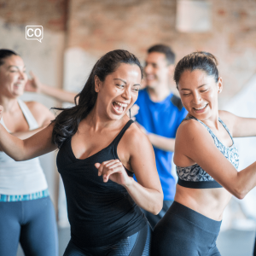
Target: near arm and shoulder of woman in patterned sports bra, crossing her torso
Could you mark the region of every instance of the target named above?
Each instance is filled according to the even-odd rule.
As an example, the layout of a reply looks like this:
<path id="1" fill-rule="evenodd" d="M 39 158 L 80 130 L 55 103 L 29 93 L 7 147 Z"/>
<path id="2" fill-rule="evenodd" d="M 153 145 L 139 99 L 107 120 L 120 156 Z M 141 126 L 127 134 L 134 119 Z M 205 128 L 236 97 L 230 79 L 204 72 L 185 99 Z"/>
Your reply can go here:
<path id="1" fill-rule="evenodd" d="M 176 142 L 174 162 L 177 166 L 182 166 L 184 159 L 192 160 L 239 199 L 256 186 L 256 162 L 237 172 L 199 122 L 189 120 L 180 125 Z"/>

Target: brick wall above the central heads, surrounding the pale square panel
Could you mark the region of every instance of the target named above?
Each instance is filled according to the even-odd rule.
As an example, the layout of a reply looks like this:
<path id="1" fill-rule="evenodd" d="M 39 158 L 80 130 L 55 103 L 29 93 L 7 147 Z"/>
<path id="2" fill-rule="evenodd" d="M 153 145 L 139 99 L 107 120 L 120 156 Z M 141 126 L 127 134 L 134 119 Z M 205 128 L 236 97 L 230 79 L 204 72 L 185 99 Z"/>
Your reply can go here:
<path id="1" fill-rule="evenodd" d="M 256 1 L 210 2 L 212 31 L 182 33 L 175 30 L 174 0 L 70 0 L 67 45 L 97 56 L 129 49 L 141 59 L 157 43 L 171 45 L 177 60 L 195 50 L 210 51 L 224 79 L 224 103 L 256 71 Z"/>

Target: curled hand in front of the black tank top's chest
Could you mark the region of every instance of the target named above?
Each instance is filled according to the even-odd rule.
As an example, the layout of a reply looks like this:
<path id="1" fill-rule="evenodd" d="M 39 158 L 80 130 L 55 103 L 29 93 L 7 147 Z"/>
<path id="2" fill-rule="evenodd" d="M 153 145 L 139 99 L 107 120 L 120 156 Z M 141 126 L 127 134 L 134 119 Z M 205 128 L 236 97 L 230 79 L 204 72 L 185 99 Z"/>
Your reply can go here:
<path id="1" fill-rule="evenodd" d="M 127 175 L 125 167 L 118 159 L 108 160 L 102 164 L 96 163 L 95 166 L 98 169 L 98 176 L 103 177 L 104 183 L 107 183 L 108 179 L 122 186 L 128 186 L 131 183 L 131 177 Z"/>

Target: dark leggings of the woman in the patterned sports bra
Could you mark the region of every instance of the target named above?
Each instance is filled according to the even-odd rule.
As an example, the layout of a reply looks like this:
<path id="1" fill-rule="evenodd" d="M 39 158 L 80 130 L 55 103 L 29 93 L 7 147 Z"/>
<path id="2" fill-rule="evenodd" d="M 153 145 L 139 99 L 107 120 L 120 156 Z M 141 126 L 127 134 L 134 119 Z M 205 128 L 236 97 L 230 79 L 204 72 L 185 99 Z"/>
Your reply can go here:
<path id="1" fill-rule="evenodd" d="M 207 218 L 176 201 L 156 224 L 152 256 L 220 256 L 216 239 L 221 221 Z"/>

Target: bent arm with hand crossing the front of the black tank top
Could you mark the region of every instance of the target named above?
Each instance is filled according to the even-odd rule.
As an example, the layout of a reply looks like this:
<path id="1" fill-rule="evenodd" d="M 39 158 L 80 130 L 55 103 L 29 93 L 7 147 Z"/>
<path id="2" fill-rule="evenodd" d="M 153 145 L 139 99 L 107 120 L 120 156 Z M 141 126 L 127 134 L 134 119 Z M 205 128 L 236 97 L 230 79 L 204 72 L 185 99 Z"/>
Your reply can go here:
<path id="1" fill-rule="evenodd" d="M 99 175 L 106 177 L 105 182 L 108 182 L 109 178 L 123 185 L 139 207 L 158 214 L 163 205 L 163 191 L 155 166 L 154 150 L 142 132 L 126 132 L 124 136 L 126 150 L 131 155 L 131 168 L 137 177 L 137 182 L 126 174 L 119 160 L 97 164 Z M 116 173 L 119 175 L 117 176 Z"/>

